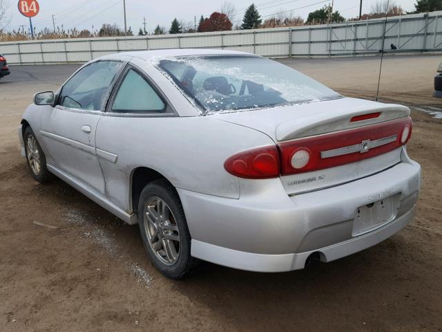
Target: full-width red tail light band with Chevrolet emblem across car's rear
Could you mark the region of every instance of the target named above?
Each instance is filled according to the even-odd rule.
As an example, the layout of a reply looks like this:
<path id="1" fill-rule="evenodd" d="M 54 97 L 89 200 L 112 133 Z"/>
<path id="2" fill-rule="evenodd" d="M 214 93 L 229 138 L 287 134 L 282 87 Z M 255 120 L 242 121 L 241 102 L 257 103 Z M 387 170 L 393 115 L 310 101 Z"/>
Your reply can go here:
<path id="1" fill-rule="evenodd" d="M 312 172 L 385 154 L 407 144 L 411 134 L 411 118 L 401 118 L 242 151 L 228 158 L 224 168 L 240 178 Z"/>

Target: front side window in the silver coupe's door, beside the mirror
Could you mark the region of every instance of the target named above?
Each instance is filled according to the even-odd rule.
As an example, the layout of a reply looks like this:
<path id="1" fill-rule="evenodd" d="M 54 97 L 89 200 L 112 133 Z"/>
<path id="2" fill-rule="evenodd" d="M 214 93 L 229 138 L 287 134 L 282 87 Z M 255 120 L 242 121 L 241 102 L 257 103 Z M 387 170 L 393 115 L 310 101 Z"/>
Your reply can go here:
<path id="1" fill-rule="evenodd" d="M 59 104 L 73 109 L 100 111 L 108 87 L 124 64 L 99 61 L 82 68 L 64 84 Z"/>

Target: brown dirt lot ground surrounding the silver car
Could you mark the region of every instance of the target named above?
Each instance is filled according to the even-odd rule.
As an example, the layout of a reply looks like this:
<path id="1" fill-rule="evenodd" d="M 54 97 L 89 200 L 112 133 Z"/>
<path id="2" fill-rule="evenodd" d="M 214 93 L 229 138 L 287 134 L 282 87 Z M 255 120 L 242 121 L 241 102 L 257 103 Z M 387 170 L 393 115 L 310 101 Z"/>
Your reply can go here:
<path id="1" fill-rule="evenodd" d="M 385 59 L 381 99 L 441 106 L 441 56 Z M 378 57 L 283 60 L 372 99 Z M 423 168 L 416 219 L 377 246 L 306 270 L 204 264 L 162 277 L 129 226 L 62 181 L 39 185 L 17 126 L 37 91 L 77 65 L 12 66 L 0 81 L 0 331 L 442 331 L 442 120 L 413 111 L 407 149 Z"/>

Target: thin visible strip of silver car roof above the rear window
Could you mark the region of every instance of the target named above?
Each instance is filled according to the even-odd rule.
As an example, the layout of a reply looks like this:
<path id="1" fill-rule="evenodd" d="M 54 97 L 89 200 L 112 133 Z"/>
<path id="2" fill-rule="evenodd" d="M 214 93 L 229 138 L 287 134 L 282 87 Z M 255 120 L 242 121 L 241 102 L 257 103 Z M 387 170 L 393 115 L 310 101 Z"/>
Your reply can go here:
<path id="1" fill-rule="evenodd" d="M 239 50 L 219 50 L 215 48 L 168 48 L 162 50 L 137 50 L 132 52 L 122 52 L 119 55 L 138 57 L 144 60 L 180 57 L 185 55 L 252 55 L 251 53 L 240 52 Z"/>

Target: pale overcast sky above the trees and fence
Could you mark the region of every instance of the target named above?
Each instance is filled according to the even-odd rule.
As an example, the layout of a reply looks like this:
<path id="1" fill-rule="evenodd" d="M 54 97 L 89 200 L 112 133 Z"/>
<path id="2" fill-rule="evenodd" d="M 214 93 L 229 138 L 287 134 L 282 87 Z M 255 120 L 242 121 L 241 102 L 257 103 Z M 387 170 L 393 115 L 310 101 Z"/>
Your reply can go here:
<path id="1" fill-rule="evenodd" d="M 8 1 L 8 0 L 6 0 Z M 52 28 L 52 15 L 55 15 L 55 26 L 77 28 L 81 30 L 99 29 L 103 23 L 117 24 L 124 28 L 123 0 L 37 0 L 40 11 L 32 19 L 37 30 Z M 406 11 L 414 10 L 416 0 L 392 0 Z M 21 25 L 28 28 L 29 19 L 17 10 L 18 0 L 10 0 L 9 15 L 11 17 L 7 30 L 17 30 Z M 233 25 L 240 24 L 244 10 L 251 0 L 231 0 L 236 8 Z M 323 7 L 332 0 L 255 0 L 254 3 L 265 19 L 266 15 L 291 10 L 294 16 L 307 19 L 309 12 Z M 363 12 L 369 12 L 376 0 L 363 0 Z M 169 29 L 171 21 L 177 17 L 179 21 L 193 23 L 194 17 L 198 24 L 201 15 L 208 17 L 211 12 L 219 11 L 224 0 L 173 0 L 148 1 L 126 0 L 127 26 L 131 26 L 135 35 L 143 27 L 146 18 L 146 30 L 152 32 L 157 24 Z M 339 10 L 343 17 L 357 17 L 360 0 L 334 0 L 334 10 Z"/>

